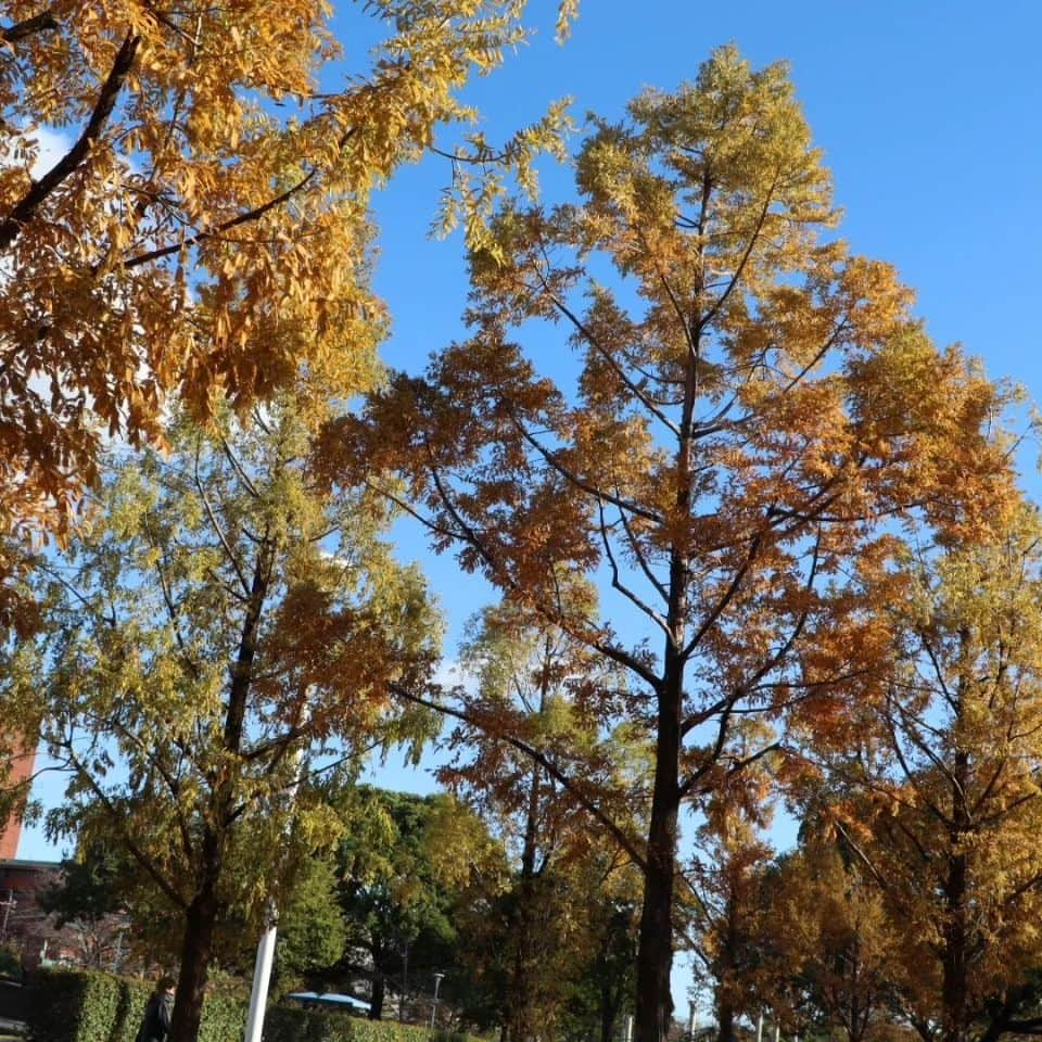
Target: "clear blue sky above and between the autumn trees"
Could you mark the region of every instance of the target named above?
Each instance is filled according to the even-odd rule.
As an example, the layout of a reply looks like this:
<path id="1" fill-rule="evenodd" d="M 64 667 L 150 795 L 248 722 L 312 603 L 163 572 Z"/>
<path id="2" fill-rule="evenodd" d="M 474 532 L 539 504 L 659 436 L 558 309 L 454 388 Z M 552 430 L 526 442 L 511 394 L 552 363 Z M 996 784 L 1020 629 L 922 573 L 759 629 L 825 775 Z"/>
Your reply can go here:
<path id="1" fill-rule="evenodd" d="M 354 16 L 339 7 L 350 56 Z M 563 96 L 574 98 L 580 119 L 589 110 L 618 116 L 641 87 L 694 78 L 722 43 L 737 43 L 758 66 L 788 60 L 834 173 L 843 237 L 898 267 L 939 343 L 961 341 L 992 377 L 1042 398 L 1042 4 L 584 0 L 563 47 L 552 40 L 554 10 L 536 0 L 530 15 L 538 36 L 469 92 L 494 140 Z M 566 191 L 567 180 L 544 166 L 548 194 Z M 420 369 L 460 331 L 460 241 L 425 237 L 447 174 L 443 162 L 428 161 L 403 171 L 377 203 L 377 287 L 394 317 L 385 357 L 396 367 Z M 1039 486 L 1034 453 L 1029 446 L 1024 457 L 1030 488 Z M 429 560 L 420 541 L 403 554 L 424 561 L 447 613 L 450 655 L 488 594 L 450 559 Z M 422 772 L 385 771 L 380 780 L 430 785 Z M 21 855 L 53 851 L 30 830 Z M 676 999 L 683 1003 L 682 991 Z"/>

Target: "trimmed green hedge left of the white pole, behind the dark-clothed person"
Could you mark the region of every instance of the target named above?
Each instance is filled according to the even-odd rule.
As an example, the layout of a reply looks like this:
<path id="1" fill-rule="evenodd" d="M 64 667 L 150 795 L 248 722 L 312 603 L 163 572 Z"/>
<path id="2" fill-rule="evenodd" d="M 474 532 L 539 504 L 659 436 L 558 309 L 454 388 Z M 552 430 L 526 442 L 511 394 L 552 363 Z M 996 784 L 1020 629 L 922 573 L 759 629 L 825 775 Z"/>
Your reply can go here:
<path id="1" fill-rule="evenodd" d="M 134 1042 L 152 984 L 87 970 L 43 970 L 28 1025 L 31 1042 Z M 246 1024 L 241 999 L 211 993 L 199 1042 L 236 1042 Z"/>

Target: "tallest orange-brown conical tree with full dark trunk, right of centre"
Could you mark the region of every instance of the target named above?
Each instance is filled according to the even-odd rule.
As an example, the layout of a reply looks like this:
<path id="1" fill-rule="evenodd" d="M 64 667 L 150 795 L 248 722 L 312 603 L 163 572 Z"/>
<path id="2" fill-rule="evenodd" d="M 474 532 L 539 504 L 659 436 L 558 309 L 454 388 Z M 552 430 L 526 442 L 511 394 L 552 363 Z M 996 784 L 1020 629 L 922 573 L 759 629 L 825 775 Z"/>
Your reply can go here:
<path id="1" fill-rule="evenodd" d="M 1001 395 L 835 239 L 783 65 L 716 51 L 594 119 L 575 177 L 572 203 L 501 211 L 471 338 L 335 425 L 327 466 L 396 474 L 439 548 L 628 673 L 655 750 L 637 1038 L 661 1042 L 681 806 L 760 754 L 732 750 L 741 714 L 842 721 L 830 682 L 879 651 L 846 575 L 881 583 L 914 516 L 997 511 Z M 569 572 L 603 580 L 597 620 Z"/>

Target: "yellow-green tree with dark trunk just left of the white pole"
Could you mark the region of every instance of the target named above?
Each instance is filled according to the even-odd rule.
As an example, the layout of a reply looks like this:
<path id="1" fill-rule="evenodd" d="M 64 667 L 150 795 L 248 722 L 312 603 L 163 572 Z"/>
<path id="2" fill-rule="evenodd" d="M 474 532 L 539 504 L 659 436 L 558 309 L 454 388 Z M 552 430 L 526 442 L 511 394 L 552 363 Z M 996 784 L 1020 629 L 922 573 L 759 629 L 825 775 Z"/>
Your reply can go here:
<path id="1" fill-rule="evenodd" d="M 423 584 L 382 537 L 385 500 L 316 487 L 302 402 L 115 461 L 90 531 L 39 564 L 47 632 L 3 663 L 5 691 L 41 692 L 71 772 L 52 833 L 103 828 L 176 913 L 174 1042 L 196 1035 L 229 910 L 256 923 L 335 839 L 313 786 L 285 798 L 301 757 L 427 733 L 387 701 L 436 657 Z"/>

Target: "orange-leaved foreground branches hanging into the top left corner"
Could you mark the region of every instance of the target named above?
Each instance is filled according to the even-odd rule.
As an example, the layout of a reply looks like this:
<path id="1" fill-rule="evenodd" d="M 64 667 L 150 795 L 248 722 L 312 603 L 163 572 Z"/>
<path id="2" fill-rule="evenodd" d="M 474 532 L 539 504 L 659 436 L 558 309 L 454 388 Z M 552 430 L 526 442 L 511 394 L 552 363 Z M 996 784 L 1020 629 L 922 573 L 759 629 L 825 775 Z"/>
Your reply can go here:
<path id="1" fill-rule="evenodd" d="M 171 398 L 242 408 L 302 363 L 368 385 L 369 193 L 470 118 L 458 92 L 523 37 L 523 8 L 379 0 L 355 16 L 369 60 L 345 67 L 314 0 L 4 5 L 5 530 L 65 532 L 104 441 L 162 443 Z M 498 158 L 528 177 L 558 122 Z"/>

